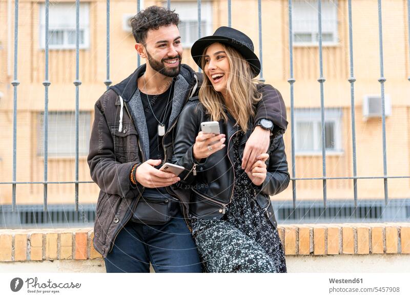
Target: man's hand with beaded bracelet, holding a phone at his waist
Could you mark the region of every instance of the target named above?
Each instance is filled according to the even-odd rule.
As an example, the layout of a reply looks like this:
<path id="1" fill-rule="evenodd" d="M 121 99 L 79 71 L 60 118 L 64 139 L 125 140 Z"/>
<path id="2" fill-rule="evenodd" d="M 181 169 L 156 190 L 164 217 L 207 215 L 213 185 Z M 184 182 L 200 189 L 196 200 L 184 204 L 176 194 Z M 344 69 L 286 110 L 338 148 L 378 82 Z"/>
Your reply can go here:
<path id="1" fill-rule="evenodd" d="M 170 186 L 180 180 L 172 173 L 166 173 L 156 169 L 155 165 L 160 165 L 160 159 L 149 159 L 137 167 L 135 176 L 137 182 L 149 188 Z"/>

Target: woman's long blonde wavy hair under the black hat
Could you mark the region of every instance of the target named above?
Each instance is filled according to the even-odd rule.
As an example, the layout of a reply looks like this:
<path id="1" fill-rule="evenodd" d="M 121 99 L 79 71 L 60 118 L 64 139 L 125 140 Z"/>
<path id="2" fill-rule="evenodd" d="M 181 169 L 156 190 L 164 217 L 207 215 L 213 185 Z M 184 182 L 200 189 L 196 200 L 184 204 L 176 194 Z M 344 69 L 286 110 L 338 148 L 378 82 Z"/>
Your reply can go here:
<path id="1" fill-rule="evenodd" d="M 248 130 L 250 117 L 255 116 L 254 104 L 257 103 L 262 95 L 256 88 L 256 81 L 253 80 L 252 69 L 243 56 L 234 48 L 221 44 L 227 54 L 230 74 L 227 82 L 228 96 L 232 100 L 232 111 L 230 111 L 236 124 L 239 124 L 241 130 Z M 207 48 L 203 50 L 201 57 L 201 68 L 205 67 L 205 54 Z M 228 121 L 228 116 L 224 109 L 227 108 L 223 96 L 216 92 L 212 82 L 207 75 L 203 75 L 203 83 L 199 89 L 199 101 L 202 103 L 207 113 L 211 116 L 212 121 L 221 119 Z"/>

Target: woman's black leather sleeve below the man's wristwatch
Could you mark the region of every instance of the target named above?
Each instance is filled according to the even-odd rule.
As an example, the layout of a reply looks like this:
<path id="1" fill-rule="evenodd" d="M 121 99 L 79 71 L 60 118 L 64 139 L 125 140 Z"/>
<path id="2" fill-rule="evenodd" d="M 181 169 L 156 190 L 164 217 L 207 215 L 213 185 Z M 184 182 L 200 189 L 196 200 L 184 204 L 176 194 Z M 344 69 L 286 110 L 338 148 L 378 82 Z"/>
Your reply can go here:
<path id="1" fill-rule="evenodd" d="M 273 196 L 286 189 L 289 182 L 290 175 L 288 162 L 286 161 L 285 145 L 283 136 L 279 136 L 271 143 L 267 177 L 262 183 L 261 190 L 263 193 Z"/>

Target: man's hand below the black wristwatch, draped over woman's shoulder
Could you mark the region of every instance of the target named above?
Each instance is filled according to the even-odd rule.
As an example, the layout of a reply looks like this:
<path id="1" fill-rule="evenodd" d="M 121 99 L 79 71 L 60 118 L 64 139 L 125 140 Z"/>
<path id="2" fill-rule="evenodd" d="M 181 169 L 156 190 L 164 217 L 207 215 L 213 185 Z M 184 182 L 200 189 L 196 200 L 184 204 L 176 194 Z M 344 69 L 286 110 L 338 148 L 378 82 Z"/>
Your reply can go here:
<path id="1" fill-rule="evenodd" d="M 256 126 L 253 133 L 245 144 L 245 150 L 242 157 L 242 169 L 245 172 L 250 172 L 256 157 L 262 153 L 266 153 L 269 148 L 271 132 Z"/>

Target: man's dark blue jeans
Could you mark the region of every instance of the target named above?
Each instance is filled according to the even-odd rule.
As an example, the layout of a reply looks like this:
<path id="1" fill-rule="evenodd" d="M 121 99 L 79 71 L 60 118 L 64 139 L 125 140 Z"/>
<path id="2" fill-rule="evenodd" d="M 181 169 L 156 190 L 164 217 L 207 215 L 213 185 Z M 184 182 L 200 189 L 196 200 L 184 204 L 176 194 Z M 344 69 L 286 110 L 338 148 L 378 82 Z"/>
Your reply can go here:
<path id="1" fill-rule="evenodd" d="M 145 225 L 129 221 L 104 259 L 107 272 L 201 272 L 195 243 L 178 211 L 168 223 Z"/>

